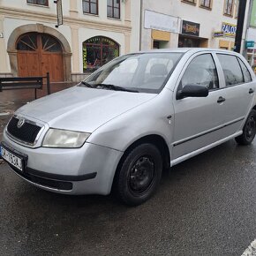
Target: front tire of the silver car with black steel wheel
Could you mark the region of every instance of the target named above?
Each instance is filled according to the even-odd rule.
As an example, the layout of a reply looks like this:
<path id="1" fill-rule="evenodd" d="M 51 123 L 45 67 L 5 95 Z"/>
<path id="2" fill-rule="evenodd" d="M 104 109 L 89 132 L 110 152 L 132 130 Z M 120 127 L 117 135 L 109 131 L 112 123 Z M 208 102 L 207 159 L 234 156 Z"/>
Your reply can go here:
<path id="1" fill-rule="evenodd" d="M 162 155 L 153 144 L 141 144 L 124 157 L 117 170 L 116 191 L 120 200 L 138 206 L 155 192 L 162 177 Z"/>

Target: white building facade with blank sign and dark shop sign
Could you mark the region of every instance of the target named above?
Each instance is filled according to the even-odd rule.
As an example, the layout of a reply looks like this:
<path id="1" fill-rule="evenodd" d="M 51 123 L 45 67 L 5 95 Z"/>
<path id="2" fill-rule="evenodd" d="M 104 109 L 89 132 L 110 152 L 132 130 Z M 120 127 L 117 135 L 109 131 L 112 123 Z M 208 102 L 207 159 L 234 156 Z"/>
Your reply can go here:
<path id="1" fill-rule="evenodd" d="M 142 0 L 141 49 L 233 49 L 236 0 Z"/>

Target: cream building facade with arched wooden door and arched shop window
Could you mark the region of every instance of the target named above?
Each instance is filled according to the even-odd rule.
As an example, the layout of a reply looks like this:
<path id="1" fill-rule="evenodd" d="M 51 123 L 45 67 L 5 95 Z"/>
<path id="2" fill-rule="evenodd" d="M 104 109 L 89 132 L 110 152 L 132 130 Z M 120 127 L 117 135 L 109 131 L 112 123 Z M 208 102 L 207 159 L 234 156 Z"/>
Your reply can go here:
<path id="1" fill-rule="evenodd" d="M 55 2 L 0 0 L 1 76 L 49 72 L 51 81 L 79 81 L 139 50 L 140 1 L 64 0 L 58 27 Z"/>

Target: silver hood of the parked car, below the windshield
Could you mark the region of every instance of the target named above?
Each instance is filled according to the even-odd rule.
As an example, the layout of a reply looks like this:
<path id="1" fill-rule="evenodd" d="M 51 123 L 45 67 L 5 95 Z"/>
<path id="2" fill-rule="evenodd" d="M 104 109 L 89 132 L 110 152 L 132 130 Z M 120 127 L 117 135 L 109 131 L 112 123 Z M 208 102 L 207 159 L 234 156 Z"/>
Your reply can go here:
<path id="1" fill-rule="evenodd" d="M 30 102 L 15 114 L 32 117 L 53 128 L 94 132 L 102 124 L 154 96 L 76 86 Z"/>

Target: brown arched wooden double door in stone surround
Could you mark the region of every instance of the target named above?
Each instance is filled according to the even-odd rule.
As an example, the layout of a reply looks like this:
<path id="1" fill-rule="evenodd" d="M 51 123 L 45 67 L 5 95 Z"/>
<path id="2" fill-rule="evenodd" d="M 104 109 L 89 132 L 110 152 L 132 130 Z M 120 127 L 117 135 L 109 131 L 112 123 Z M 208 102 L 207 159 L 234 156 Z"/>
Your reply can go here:
<path id="1" fill-rule="evenodd" d="M 17 43 L 20 77 L 46 76 L 64 81 L 64 61 L 60 43 L 49 34 L 25 34 Z"/>

